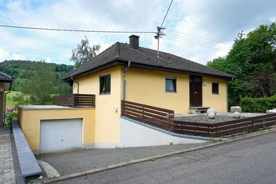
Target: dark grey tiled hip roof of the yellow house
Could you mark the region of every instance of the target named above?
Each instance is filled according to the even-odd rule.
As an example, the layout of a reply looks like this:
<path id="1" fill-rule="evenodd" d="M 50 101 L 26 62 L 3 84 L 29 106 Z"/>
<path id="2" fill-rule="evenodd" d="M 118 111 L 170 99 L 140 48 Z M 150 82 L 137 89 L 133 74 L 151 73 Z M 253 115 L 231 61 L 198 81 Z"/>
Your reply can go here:
<path id="1" fill-rule="evenodd" d="M 68 79 L 71 75 L 80 75 L 81 73 L 85 73 L 97 68 L 98 66 L 108 64 L 109 62 L 113 62 L 115 60 L 131 61 L 131 63 L 136 64 L 171 68 L 179 71 L 185 71 L 187 73 L 198 73 L 201 75 L 213 75 L 226 78 L 234 77 L 234 75 L 192 62 L 176 55 L 159 52 L 159 57 L 157 57 L 157 50 L 142 47 L 139 47 L 139 50 L 134 50 L 129 48 L 129 44 L 116 42 L 116 44 L 113 44 L 107 48 L 107 50 L 104 50 L 86 64 L 76 68 L 75 71 L 72 71 L 64 79 Z"/>

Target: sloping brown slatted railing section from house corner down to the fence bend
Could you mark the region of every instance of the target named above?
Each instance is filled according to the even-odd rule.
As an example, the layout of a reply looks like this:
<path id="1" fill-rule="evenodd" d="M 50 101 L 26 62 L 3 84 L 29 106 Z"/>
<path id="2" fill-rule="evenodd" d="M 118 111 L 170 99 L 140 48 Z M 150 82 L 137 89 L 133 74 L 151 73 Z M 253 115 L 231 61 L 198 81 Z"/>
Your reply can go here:
<path id="1" fill-rule="evenodd" d="M 161 129 L 171 130 L 173 126 L 174 111 L 153 107 L 146 104 L 121 101 L 122 116 L 145 122 L 148 125 Z"/>

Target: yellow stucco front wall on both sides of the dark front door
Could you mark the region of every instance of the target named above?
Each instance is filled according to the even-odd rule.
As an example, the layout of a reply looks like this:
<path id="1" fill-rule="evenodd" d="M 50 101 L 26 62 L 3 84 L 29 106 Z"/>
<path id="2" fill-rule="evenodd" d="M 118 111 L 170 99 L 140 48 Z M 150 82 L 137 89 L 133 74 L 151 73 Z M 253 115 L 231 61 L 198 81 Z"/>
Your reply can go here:
<path id="1" fill-rule="evenodd" d="M 176 93 L 165 91 L 165 77 L 176 77 Z M 172 109 L 174 113 L 190 112 L 190 82 L 187 74 L 130 67 L 126 82 L 128 101 Z M 218 112 L 226 111 L 226 80 L 203 77 L 203 82 L 206 82 L 202 86 L 203 106 L 214 107 Z M 212 82 L 219 82 L 219 95 L 212 94 Z"/>

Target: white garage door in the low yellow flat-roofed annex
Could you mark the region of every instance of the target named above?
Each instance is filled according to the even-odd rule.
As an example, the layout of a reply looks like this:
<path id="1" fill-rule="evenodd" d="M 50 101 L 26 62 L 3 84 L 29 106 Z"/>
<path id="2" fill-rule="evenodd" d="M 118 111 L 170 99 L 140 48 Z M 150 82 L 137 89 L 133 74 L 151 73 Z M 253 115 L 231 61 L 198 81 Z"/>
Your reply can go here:
<path id="1" fill-rule="evenodd" d="M 82 148 L 82 119 L 41 120 L 41 154 Z"/>

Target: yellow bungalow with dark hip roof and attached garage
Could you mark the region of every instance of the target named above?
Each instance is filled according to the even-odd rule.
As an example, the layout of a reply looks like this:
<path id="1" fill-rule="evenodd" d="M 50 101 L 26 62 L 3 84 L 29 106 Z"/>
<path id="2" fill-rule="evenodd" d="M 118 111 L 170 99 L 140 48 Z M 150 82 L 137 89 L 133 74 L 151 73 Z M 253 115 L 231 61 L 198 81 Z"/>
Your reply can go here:
<path id="1" fill-rule="evenodd" d="M 227 83 L 232 77 L 170 53 L 158 56 L 156 50 L 140 47 L 139 37 L 131 35 L 129 44 L 116 42 L 64 78 L 74 94 L 95 95 L 95 107 L 19 107 L 19 124 L 38 153 L 58 151 L 66 139 L 79 141 L 79 146 L 75 142 L 69 148 L 203 142 L 210 138 L 170 134 L 121 117 L 121 100 L 174 113 L 207 107 L 226 112 Z M 61 123 L 64 120 L 67 124 Z"/>

